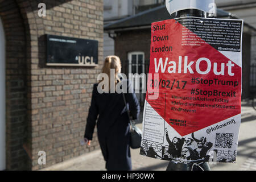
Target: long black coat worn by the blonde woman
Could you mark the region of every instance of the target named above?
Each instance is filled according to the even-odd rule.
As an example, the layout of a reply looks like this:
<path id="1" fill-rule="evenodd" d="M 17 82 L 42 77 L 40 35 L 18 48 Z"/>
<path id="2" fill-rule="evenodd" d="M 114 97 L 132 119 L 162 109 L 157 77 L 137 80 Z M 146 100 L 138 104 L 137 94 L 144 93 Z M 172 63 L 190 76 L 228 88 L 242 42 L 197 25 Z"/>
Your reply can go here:
<path id="1" fill-rule="evenodd" d="M 92 140 L 97 120 L 98 141 L 106 161 L 106 169 L 131 170 L 130 125 L 126 108 L 131 111 L 133 119 L 137 119 L 140 112 L 137 97 L 134 93 L 126 93 L 129 106 L 125 107 L 122 94 L 100 94 L 97 86 L 98 84 L 93 85 L 84 137 Z M 132 90 L 131 86 L 127 90 Z"/>

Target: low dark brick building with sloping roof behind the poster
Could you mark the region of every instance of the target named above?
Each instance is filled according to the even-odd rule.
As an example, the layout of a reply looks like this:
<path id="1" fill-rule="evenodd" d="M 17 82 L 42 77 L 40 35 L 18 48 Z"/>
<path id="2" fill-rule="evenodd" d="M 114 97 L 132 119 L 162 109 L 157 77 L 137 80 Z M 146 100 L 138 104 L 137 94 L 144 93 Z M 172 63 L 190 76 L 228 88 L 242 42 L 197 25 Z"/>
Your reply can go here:
<path id="1" fill-rule="evenodd" d="M 217 18 L 236 19 L 237 17 L 218 9 Z M 170 19 L 170 14 L 165 5 L 162 5 L 105 26 L 105 32 L 115 36 L 115 55 L 122 60 L 122 72 L 126 74 L 148 72 L 151 23 L 166 19 Z M 242 98 L 250 96 L 251 35 L 253 32 L 255 28 L 245 22 L 242 42 Z M 143 105 L 144 94 L 141 94 L 139 98 Z"/>

